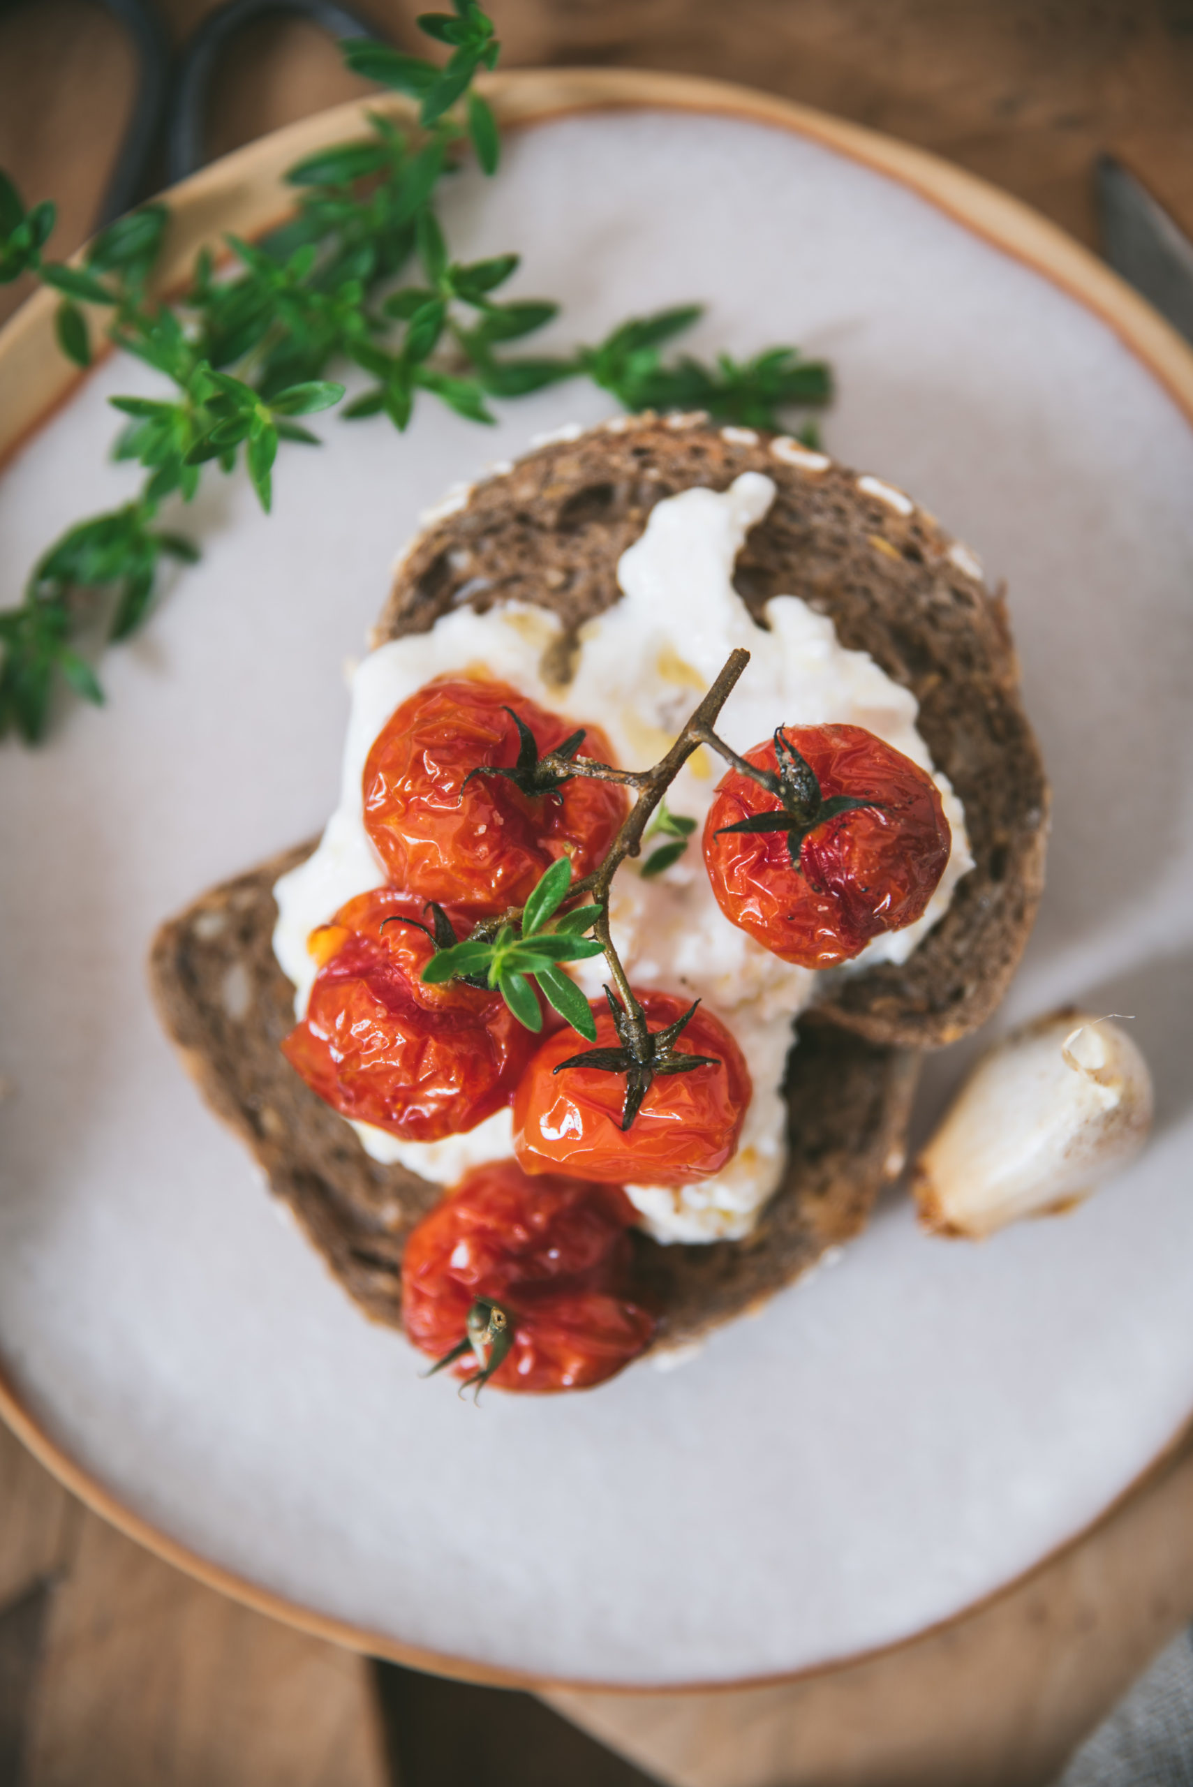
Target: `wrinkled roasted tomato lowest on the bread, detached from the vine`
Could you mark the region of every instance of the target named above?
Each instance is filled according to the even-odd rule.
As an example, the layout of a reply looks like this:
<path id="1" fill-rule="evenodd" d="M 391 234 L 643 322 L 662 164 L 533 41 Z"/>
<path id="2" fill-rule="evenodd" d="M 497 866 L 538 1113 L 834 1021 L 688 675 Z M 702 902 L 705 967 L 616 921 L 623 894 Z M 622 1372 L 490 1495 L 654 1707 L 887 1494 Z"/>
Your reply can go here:
<path id="1" fill-rule="evenodd" d="M 629 1292 L 634 1210 L 623 1192 L 580 1179 L 529 1179 L 513 1160 L 477 1167 L 423 1217 L 402 1258 L 402 1321 L 443 1358 L 477 1297 L 498 1303 L 513 1346 L 498 1390 L 584 1390 L 641 1353 L 655 1319 Z M 466 1355 L 459 1378 L 475 1372 Z"/>

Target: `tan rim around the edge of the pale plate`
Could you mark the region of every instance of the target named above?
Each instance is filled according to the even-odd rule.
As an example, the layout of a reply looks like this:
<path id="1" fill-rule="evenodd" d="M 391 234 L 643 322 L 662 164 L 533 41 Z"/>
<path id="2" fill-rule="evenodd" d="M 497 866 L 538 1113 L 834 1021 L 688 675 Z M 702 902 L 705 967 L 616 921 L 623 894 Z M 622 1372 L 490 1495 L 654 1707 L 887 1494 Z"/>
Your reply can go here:
<path id="1" fill-rule="evenodd" d="M 977 175 L 966 173 L 963 168 L 941 161 L 922 148 L 913 148 L 875 130 L 866 130 L 861 125 L 813 111 L 807 105 L 797 105 L 750 88 L 691 75 L 593 68 L 516 70 L 491 75 L 486 82 L 486 93 L 500 122 L 507 127 L 545 123 L 552 118 L 584 111 L 670 109 L 743 118 L 752 123 L 791 130 L 797 136 L 822 143 L 847 155 L 850 161 L 857 161 L 911 188 L 964 229 L 1030 266 L 1075 302 L 1093 311 L 1136 359 L 1147 366 L 1184 413 L 1189 425 L 1193 425 L 1193 352 L 1184 340 L 1130 286 L 1118 279 L 1089 250 L 1066 236 L 1064 231 L 1048 223 L 1047 218 L 1018 198 L 1011 198 L 1007 193 L 988 186 Z M 288 189 L 280 184 L 284 170 L 302 155 L 309 155 L 316 148 L 339 141 L 343 136 L 357 130 L 361 127 L 361 114 L 368 107 L 398 113 L 405 109 L 400 100 L 389 96 L 338 105 L 288 125 L 282 130 L 275 130 L 271 136 L 261 138 L 236 150 L 232 155 L 225 155 L 221 161 L 195 173 L 189 180 L 175 186 L 166 195 L 171 207 L 171 225 L 157 281 L 159 289 L 175 289 L 180 286 L 191 254 L 204 239 L 229 229 L 243 236 L 255 234 L 284 216 L 289 209 Z M 34 429 L 48 420 L 86 377 L 86 373 L 64 361 L 57 350 L 54 340 L 55 306 L 55 295 L 43 289 L 0 331 L 0 466 L 4 466 Z M 920 1639 L 947 1630 L 961 1619 L 968 1619 L 1082 1544 L 1091 1533 L 1107 1524 L 1145 1483 L 1157 1478 L 1193 1433 L 1191 1417 L 1189 1424 L 1173 1435 L 1152 1464 L 1095 1521 L 1055 1546 L 1027 1571 L 1000 1583 L 998 1589 L 950 1614 L 947 1619 L 936 1621 L 893 1644 L 855 1651 L 848 1657 L 832 1658 L 830 1662 L 814 1664 L 805 1669 L 745 1676 L 729 1682 L 596 1683 L 527 1674 L 461 1657 L 446 1657 L 439 1651 L 400 1644 L 386 1633 L 370 1632 L 288 1601 L 250 1578 L 238 1576 L 213 1564 L 125 1506 L 98 1478 L 91 1476 L 52 1439 L 38 1415 L 25 1406 L 4 1369 L 0 1369 L 0 1417 L 71 1494 L 79 1496 L 80 1501 L 105 1521 L 111 1521 L 113 1526 L 177 1569 L 186 1571 L 198 1581 L 207 1583 L 207 1587 L 261 1614 L 280 1619 L 314 1637 L 327 1639 L 332 1644 L 343 1644 L 371 1657 L 386 1657 L 434 1674 L 496 1687 L 520 1687 L 532 1692 L 564 1689 L 595 1694 L 689 1694 L 772 1687 L 848 1669 L 855 1664 L 872 1662 L 877 1657 L 904 1649 Z"/>

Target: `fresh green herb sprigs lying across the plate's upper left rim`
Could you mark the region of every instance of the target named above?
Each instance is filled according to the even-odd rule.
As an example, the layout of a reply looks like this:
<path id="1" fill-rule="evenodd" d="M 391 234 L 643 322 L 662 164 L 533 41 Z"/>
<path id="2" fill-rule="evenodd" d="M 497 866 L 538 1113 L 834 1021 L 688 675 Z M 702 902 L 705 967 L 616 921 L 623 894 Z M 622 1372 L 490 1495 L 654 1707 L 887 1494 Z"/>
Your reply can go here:
<path id="1" fill-rule="evenodd" d="M 79 264 L 66 264 L 46 257 L 54 204 L 27 209 L 0 173 L 0 284 L 32 273 L 57 291 L 57 340 L 79 366 L 91 365 L 98 311 L 104 334 L 173 386 L 161 399 L 113 399 L 125 418 L 114 457 L 141 468 L 138 493 L 70 527 L 39 558 L 23 600 L 0 613 L 0 736 L 39 740 L 63 684 L 104 701 L 79 634 L 105 613 L 107 640 L 127 638 L 161 595 L 163 566 L 198 558 L 191 540 L 159 525 L 161 506 L 191 502 L 214 466 L 243 468 L 268 511 L 280 447 L 318 445 L 295 418 L 343 397 L 343 384 L 327 377 L 332 365 L 354 363 L 373 381 L 343 416 L 384 415 L 398 429 L 423 399 L 491 424 L 493 400 L 575 377 L 630 411 L 707 409 L 750 427 L 779 427 L 782 411 L 829 402 L 829 368 L 791 347 L 748 361 L 668 361 L 677 336 L 700 318 L 698 304 L 630 318 L 595 347 L 520 352 L 516 343 L 559 306 L 502 297 L 518 256 L 457 261 L 436 214 L 439 184 L 464 155 L 486 173 L 498 166 L 496 122 L 473 84 L 496 66 L 495 27 L 473 0 L 418 23 L 450 52 L 445 64 L 363 39 L 343 46 L 350 68 L 414 100 L 418 122 L 370 113 L 368 136 L 293 166 L 295 216 L 259 243 L 227 236 L 230 270 L 202 248 L 177 304 L 150 297 L 170 222 L 164 204 L 120 218 Z M 813 434 L 809 424 L 804 436 Z"/>

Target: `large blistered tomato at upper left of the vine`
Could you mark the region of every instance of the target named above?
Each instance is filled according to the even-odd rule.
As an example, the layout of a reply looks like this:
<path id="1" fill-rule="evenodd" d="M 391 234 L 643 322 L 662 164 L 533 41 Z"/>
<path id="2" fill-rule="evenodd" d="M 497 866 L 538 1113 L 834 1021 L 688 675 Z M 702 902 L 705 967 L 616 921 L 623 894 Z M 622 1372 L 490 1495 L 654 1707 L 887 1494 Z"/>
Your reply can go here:
<path id="1" fill-rule="evenodd" d="M 505 683 L 448 677 L 429 683 L 389 717 L 364 765 L 364 829 L 395 886 L 486 917 L 521 906 L 557 858 L 575 877 L 607 854 L 629 811 L 613 783 L 575 776 L 557 792 L 521 793 L 513 768 L 518 727 L 530 727 L 539 756 L 579 729 Z M 613 763 L 609 740 L 589 726 L 580 752 Z"/>

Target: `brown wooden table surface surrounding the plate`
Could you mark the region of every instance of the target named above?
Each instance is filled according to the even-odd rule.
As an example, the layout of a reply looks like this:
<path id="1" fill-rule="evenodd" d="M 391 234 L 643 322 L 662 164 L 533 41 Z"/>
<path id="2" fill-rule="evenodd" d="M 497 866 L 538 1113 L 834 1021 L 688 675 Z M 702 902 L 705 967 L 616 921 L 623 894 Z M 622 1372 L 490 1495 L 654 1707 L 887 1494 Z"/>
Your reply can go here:
<path id="1" fill-rule="evenodd" d="M 213 9 L 159 0 L 177 41 Z M 421 43 L 404 0 L 357 11 Z M 1193 232 L 1193 0 L 493 11 L 507 64 L 768 88 L 948 155 L 1095 245 L 1091 164 L 1109 148 Z M 120 27 L 89 0 L 0 4 L 0 166 L 59 202 L 59 256 L 93 225 L 132 88 Z M 359 91 L 314 29 L 263 21 L 216 82 L 209 148 Z M 1193 1449 L 936 1635 L 750 1692 L 548 1696 L 564 1724 L 529 1696 L 377 1669 L 225 1601 L 84 1510 L 0 1430 L 0 1787 L 384 1787 L 398 1773 L 404 1787 L 1030 1787 L 1189 1617 Z"/>

